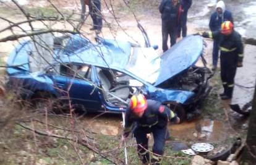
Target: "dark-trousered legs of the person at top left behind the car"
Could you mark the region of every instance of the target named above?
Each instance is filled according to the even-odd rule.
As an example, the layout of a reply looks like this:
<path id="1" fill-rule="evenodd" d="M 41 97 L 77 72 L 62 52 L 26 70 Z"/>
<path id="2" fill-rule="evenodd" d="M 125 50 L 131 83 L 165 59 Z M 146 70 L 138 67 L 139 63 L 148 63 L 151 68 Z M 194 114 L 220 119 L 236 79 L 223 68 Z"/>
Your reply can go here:
<path id="1" fill-rule="evenodd" d="M 102 16 L 101 16 L 101 0 L 90 0 L 89 12 L 93 20 L 93 28 L 100 30 L 102 28 Z"/>

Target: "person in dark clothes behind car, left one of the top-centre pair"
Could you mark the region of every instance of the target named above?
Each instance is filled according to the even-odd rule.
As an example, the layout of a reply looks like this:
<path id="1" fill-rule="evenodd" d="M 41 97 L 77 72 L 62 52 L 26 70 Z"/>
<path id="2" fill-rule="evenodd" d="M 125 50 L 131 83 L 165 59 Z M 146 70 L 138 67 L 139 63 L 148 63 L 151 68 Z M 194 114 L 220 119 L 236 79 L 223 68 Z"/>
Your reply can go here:
<path id="1" fill-rule="evenodd" d="M 163 51 L 167 51 L 168 35 L 171 38 L 171 46 L 176 43 L 182 8 L 179 0 L 162 0 L 159 11 L 162 19 Z"/>

